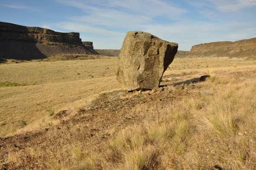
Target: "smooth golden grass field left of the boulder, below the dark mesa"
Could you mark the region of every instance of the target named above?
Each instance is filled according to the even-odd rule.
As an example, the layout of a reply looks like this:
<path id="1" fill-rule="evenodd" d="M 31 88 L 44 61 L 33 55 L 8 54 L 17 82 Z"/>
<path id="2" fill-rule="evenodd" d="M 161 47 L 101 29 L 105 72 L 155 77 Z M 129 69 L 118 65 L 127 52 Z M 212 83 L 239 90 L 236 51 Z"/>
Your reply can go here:
<path id="1" fill-rule="evenodd" d="M 0 137 L 24 127 L 21 121 L 40 127 L 52 120 L 52 112 L 78 110 L 100 93 L 119 89 L 117 62 L 117 57 L 102 57 L 1 64 L 0 82 L 27 85 L 0 87 Z"/>

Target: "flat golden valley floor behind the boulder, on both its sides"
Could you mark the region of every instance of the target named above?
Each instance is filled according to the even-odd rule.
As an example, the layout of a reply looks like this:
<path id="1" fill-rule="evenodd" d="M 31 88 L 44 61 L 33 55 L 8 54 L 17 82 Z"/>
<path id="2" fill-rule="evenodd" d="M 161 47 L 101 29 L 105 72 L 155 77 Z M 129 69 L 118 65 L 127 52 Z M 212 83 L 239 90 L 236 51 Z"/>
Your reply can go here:
<path id="1" fill-rule="evenodd" d="M 175 58 L 163 79 L 167 76 L 174 84 L 213 70 L 254 65 L 241 58 Z M 20 122 L 42 124 L 53 112 L 78 109 L 102 92 L 119 89 L 117 67 L 118 57 L 1 64 L 0 136 L 23 127 Z"/>

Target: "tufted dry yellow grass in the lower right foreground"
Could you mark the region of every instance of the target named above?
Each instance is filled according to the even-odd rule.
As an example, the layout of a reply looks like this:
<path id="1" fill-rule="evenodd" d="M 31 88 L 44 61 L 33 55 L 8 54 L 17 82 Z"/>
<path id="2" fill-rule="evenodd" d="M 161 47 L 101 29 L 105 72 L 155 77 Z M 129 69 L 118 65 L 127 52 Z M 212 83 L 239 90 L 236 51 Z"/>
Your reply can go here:
<path id="1" fill-rule="evenodd" d="M 111 160 L 104 164 L 104 169 L 207 170 L 215 165 L 232 170 L 254 169 L 256 82 L 216 85 L 209 80 L 202 84 L 214 88 L 214 94 L 202 93 L 176 104 L 145 104 L 132 109 L 134 115 L 148 118 L 113 135 L 107 154 L 99 155 L 105 159 L 102 162 Z M 244 92 L 253 93 L 248 98 Z M 198 107 L 197 103 L 203 105 Z"/>

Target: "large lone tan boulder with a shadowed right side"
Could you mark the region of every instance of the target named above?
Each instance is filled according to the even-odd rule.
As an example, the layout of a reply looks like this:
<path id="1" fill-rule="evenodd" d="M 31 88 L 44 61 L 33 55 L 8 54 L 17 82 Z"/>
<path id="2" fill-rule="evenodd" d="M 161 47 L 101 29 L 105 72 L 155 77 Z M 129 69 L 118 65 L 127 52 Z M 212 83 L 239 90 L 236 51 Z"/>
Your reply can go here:
<path id="1" fill-rule="evenodd" d="M 170 43 L 147 32 L 128 32 L 119 54 L 117 81 L 124 90 L 158 87 L 177 52 Z"/>

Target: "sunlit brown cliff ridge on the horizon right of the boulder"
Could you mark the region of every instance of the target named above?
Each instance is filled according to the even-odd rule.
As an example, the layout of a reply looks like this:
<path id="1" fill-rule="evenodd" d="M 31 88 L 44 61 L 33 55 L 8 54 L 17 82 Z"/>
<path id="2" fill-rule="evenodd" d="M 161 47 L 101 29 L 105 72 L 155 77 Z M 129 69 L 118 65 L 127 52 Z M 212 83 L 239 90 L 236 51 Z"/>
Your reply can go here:
<path id="1" fill-rule="evenodd" d="M 192 46 L 187 56 L 250 57 L 256 56 L 256 38 L 204 43 Z"/>

